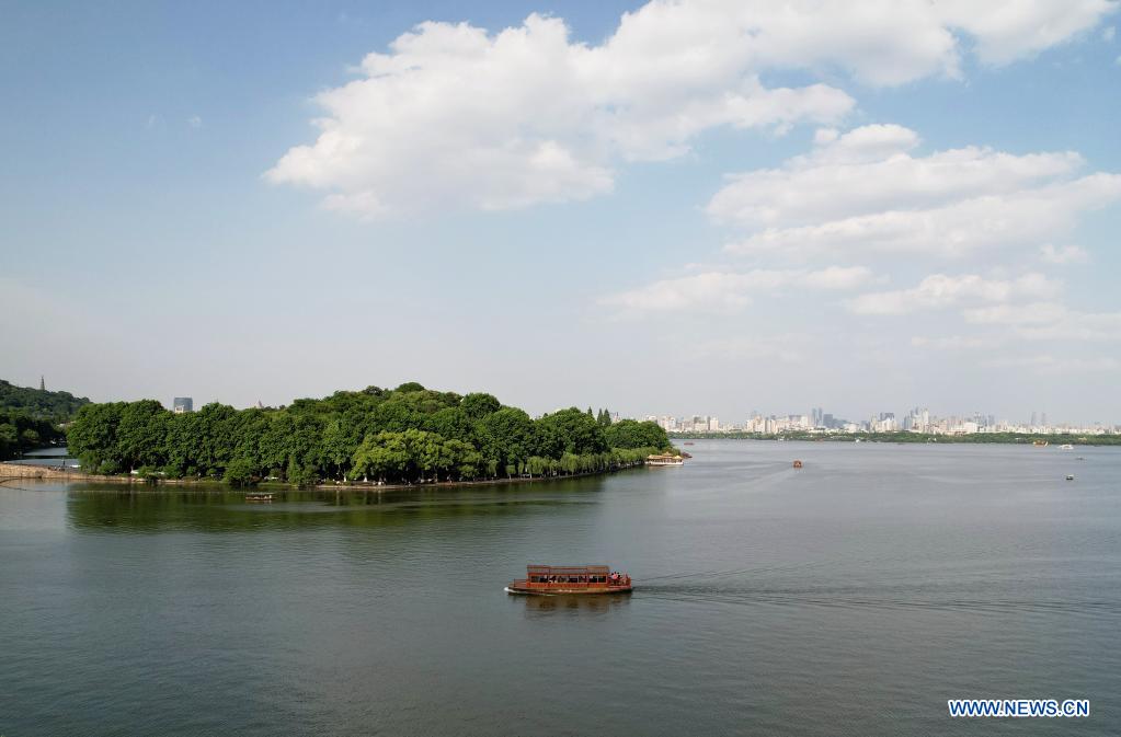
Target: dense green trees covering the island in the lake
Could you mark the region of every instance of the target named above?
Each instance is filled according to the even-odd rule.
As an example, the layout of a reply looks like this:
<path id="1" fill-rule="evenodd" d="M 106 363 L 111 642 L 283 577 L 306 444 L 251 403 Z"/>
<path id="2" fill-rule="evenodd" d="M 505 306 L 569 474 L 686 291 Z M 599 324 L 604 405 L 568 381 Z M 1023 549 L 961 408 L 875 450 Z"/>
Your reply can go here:
<path id="1" fill-rule="evenodd" d="M 300 399 L 287 408 L 207 404 L 175 414 L 159 402 L 83 407 L 67 432 L 85 470 L 151 477 L 415 483 L 609 470 L 668 449 L 654 422 L 612 423 L 576 408 L 534 420 L 491 394 L 418 383 Z"/>

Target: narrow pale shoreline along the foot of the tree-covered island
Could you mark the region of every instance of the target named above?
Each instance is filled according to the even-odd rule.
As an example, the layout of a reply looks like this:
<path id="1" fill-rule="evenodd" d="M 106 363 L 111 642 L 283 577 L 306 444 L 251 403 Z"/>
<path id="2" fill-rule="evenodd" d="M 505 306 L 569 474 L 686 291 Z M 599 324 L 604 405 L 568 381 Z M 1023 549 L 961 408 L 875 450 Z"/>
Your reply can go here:
<path id="1" fill-rule="evenodd" d="M 285 491 L 316 491 L 316 492 L 396 492 L 406 489 L 453 489 L 460 487 L 470 486 L 494 486 L 494 485 L 508 485 L 508 484 L 529 484 L 534 482 L 558 482 L 566 481 L 569 478 L 587 478 L 590 476 L 606 476 L 621 470 L 630 470 L 633 468 L 645 468 L 646 463 L 632 463 L 624 464 L 617 468 L 611 468 L 609 470 L 593 470 L 585 472 L 581 474 L 565 474 L 563 476 L 532 476 L 532 477 L 510 477 L 510 478 L 489 478 L 484 481 L 470 481 L 470 482 L 430 482 L 423 484 L 377 484 L 374 482 L 332 482 L 332 483 L 321 483 L 314 484 L 312 486 L 298 486 L 296 484 L 289 484 L 287 482 L 266 482 L 261 484 L 256 484 L 253 486 L 233 486 L 222 479 L 215 478 L 159 478 L 159 479 L 145 479 L 138 478 L 136 476 L 117 476 L 117 475 L 105 475 L 105 474 L 86 474 L 83 472 L 75 472 L 68 469 L 61 469 L 52 466 L 37 466 L 31 464 L 12 464 L 7 461 L 0 461 L 0 485 L 8 481 L 25 479 L 25 481 L 57 481 L 62 483 L 108 483 L 108 484 L 126 484 L 129 486 L 141 486 L 148 488 L 135 489 L 140 492 L 158 493 L 160 486 L 221 486 L 223 491 L 232 492 L 251 492 L 252 489 L 269 489 L 269 488 L 280 488 Z M 170 489 L 167 489 L 170 491 Z M 196 489 L 200 493 L 210 493 L 211 489 Z"/>

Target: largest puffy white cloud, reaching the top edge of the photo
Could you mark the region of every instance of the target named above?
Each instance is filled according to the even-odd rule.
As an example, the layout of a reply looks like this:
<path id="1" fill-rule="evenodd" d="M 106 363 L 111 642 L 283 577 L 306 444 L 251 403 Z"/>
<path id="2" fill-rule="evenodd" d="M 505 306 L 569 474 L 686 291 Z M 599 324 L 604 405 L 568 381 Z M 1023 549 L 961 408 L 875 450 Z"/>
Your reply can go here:
<path id="1" fill-rule="evenodd" d="M 599 45 L 537 15 L 497 34 L 425 22 L 368 55 L 360 78 L 318 94 L 317 140 L 266 176 L 325 190 L 327 207 L 364 217 L 582 199 L 610 192 L 619 162 L 680 156 L 706 130 L 782 130 L 853 106 L 824 84 L 768 87 L 763 73 L 840 69 L 871 85 L 957 76 L 963 48 L 1003 64 L 1110 9 L 1104 0 L 654 0 Z"/>

